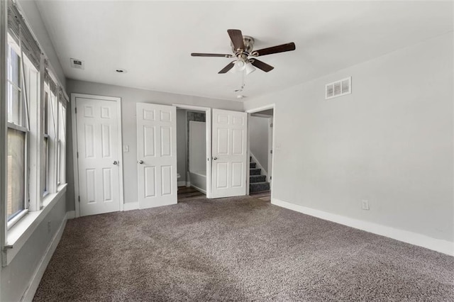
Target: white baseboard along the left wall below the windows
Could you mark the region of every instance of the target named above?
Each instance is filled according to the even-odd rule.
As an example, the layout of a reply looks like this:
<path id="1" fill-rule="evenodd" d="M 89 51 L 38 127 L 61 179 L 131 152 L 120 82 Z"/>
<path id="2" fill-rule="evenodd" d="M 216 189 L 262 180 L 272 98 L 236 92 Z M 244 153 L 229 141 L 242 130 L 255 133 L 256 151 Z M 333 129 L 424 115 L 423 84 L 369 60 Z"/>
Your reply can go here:
<path id="1" fill-rule="evenodd" d="M 74 211 L 72 211 L 72 212 L 74 212 Z M 57 232 L 55 232 L 54 237 L 52 237 L 52 240 L 50 241 L 50 245 L 48 246 L 48 249 L 45 251 L 43 258 L 41 259 L 40 263 L 38 264 L 38 267 L 35 270 L 35 274 L 33 274 L 30 285 L 26 289 L 25 293 L 23 293 L 21 301 L 33 301 L 33 297 L 35 296 L 38 286 L 40 285 L 40 281 L 41 281 L 41 278 L 43 278 L 45 269 L 48 267 L 50 258 L 54 254 L 55 249 L 57 248 L 58 242 L 60 242 L 60 239 L 63 234 L 63 230 L 65 230 L 66 222 L 68 220 L 68 213 L 70 213 L 70 215 L 72 215 L 71 212 L 67 212 L 65 217 L 63 218 L 63 221 L 60 224 L 60 228 L 58 228 Z M 75 212 L 74 212 L 74 214 L 75 214 Z"/>

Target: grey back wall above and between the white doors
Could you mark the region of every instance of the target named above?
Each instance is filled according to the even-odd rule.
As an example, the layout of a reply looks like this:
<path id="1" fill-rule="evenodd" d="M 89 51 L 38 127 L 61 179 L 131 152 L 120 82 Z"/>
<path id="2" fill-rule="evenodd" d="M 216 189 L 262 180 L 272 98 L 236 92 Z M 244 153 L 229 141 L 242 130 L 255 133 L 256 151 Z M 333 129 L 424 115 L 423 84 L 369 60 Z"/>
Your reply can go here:
<path id="1" fill-rule="evenodd" d="M 129 145 L 130 152 L 123 152 L 123 184 L 125 203 L 138 202 L 137 194 L 137 131 L 135 128 L 135 104 L 138 102 L 163 105 L 186 104 L 193 106 L 212 107 L 233 111 L 243 111 L 243 103 L 237 101 L 223 101 L 206 99 L 198 96 L 184 96 L 159 91 L 133 89 L 122 86 L 106 85 L 92 82 L 82 82 L 67 79 L 67 92 L 80 94 L 94 94 L 101 96 L 116 96 L 121 98 L 122 135 L 123 145 Z M 74 174 L 72 162 L 72 121 L 67 121 L 69 138 L 67 139 L 67 167 L 68 184 L 68 211 L 74 209 Z"/>

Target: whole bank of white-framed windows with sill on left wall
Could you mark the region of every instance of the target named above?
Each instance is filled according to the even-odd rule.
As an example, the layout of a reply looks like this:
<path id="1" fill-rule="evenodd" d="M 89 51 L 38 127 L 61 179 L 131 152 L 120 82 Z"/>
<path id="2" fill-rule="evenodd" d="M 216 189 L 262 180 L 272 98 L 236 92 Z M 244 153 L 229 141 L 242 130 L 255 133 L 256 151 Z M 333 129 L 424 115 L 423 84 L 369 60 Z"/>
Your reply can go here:
<path id="1" fill-rule="evenodd" d="M 54 205 L 65 190 L 65 131 L 67 96 L 52 74 L 48 58 L 28 28 L 16 1 L 7 1 L 7 35 L 0 41 L 6 51 L 1 69 L 5 90 L 0 102 L 4 128 L 0 149 L 6 167 L 0 179 L 6 198 L 1 200 L 6 225 L 0 247 L 8 265 L 45 218 L 45 206 Z M 2 4 L 3 6 L 3 4 Z M 2 28 L 2 32 L 5 28 Z M 6 80 L 5 80 L 6 79 Z M 6 129 L 5 129 L 6 128 Z M 58 186 L 60 184 L 60 186 Z M 44 196 L 45 195 L 45 196 Z M 64 201 L 62 201 L 64 202 Z M 36 215 L 28 213 L 35 212 Z M 26 219 L 21 219 L 26 217 Z M 6 226 L 6 230 L 4 227 Z"/>

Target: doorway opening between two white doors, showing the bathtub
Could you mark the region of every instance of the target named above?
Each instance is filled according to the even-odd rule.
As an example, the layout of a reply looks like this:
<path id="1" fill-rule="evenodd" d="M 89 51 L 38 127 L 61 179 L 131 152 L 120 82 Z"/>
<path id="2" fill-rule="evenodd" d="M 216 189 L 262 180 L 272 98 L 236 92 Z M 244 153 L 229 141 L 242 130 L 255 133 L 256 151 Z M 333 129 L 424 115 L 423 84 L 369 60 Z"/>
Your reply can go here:
<path id="1" fill-rule="evenodd" d="M 211 111 L 177 106 L 178 201 L 206 196 L 211 187 Z"/>

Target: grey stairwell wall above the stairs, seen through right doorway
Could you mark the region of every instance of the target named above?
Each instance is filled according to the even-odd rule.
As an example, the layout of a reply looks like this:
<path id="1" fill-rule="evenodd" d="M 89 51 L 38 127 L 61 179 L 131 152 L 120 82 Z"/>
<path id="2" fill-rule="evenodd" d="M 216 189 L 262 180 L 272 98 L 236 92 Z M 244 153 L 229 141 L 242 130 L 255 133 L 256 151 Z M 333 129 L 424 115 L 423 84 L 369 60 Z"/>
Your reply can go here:
<path id="1" fill-rule="evenodd" d="M 268 172 L 268 124 L 269 118 L 249 116 L 249 149 L 260 165 Z"/>

